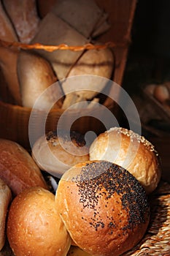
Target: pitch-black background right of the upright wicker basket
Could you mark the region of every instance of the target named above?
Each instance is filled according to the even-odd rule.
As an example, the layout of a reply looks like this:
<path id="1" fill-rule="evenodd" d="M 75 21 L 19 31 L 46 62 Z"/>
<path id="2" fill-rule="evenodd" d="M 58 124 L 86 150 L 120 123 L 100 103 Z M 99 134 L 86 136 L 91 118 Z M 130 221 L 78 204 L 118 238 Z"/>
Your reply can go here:
<path id="1" fill-rule="evenodd" d="M 131 45 L 123 87 L 170 80 L 170 1 L 139 0 L 131 30 Z"/>

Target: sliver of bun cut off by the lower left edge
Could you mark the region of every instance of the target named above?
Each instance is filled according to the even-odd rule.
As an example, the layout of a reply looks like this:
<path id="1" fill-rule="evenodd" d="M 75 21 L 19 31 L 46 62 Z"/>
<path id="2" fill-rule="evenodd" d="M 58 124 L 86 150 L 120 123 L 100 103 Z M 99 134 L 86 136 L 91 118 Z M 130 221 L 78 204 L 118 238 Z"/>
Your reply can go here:
<path id="1" fill-rule="evenodd" d="M 4 246 L 5 242 L 5 226 L 7 209 L 12 199 L 12 193 L 7 184 L 0 178 L 0 251 Z"/>

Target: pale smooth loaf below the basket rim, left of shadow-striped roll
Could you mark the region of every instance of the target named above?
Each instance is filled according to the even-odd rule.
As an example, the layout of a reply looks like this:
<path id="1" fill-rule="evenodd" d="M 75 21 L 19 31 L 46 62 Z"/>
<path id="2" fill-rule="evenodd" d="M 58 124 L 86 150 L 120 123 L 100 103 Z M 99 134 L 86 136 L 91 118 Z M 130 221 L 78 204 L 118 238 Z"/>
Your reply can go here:
<path id="1" fill-rule="evenodd" d="M 55 91 L 45 91 L 56 82 L 57 78 L 50 63 L 42 56 L 21 50 L 18 56 L 18 79 L 24 107 L 33 108 L 36 99 L 42 93 L 45 96 L 39 102 L 39 108 L 46 110 L 48 108 L 61 107 L 62 97 L 58 96 L 58 102 L 55 102 L 55 99 L 53 99 L 55 94 L 62 94 L 59 85 Z"/>

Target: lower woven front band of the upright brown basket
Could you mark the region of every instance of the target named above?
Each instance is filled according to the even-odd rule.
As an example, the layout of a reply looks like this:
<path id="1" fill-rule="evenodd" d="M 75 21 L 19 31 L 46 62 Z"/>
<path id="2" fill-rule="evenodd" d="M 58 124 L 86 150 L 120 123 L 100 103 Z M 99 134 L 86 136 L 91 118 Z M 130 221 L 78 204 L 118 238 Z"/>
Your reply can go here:
<path id="1" fill-rule="evenodd" d="M 111 105 L 106 106 L 112 113 L 115 111 L 114 104 L 112 102 Z M 104 110 L 103 110 L 104 111 Z M 61 115 L 64 113 L 62 109 L 53 109 L 47 116 L 47 121 L 45 123 L 45 132 L 53 131 L 57 128 L 58 120 L 61 118 Z M 30 149 L 30 142 L 28 138 L 28 124 L 29 118 L 31 115 L 31 108 L 23 108 L 18 105 L 11 105 L 9 103 L 4 103 L 0 101 L 0 117 L 1 117 L 1 125 L 0 125 L 0 137 L 8 140 L 13 140 L 19 143 L 26 149 Z M 77 118 L 77 116 L 80 116 Z M 72 119 L 77 119 L 70 127 L 72 130 L 81 132 L 85 134 L 85 132 L 93 131 L 98 135 L 100 132 L 103 132 L 106 127 L 104 124 L 97 118 L 104 116 L 105 113 L 102 114 L 102 110 L 96 109 L 79 109 L 79 110 L 70 110 L 66 113 L 66 118 L 64 118 L 64 127 L 69 129 L 70 121 Z M 116 113 L 115 113 L 116 115 Z M 39 119 L 43 118 L 44 113 L 39 111 Z M 94 118 L 93 116 L 96 116 Z M 37 124 L 38 125 L 38 124 Z M 39 131 L 39 127 L 36 127 L 36 138 L 43 135 Z"/>

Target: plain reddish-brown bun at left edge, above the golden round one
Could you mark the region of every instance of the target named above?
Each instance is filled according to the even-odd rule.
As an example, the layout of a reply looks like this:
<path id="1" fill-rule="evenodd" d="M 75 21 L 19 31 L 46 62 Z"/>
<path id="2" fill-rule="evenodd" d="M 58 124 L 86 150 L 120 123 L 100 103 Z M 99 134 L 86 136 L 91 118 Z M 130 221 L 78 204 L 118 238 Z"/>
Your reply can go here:
<path id="1" fill-rule="evenodd" d="M 9 186 L 14 195 L 23 189 L 47 184 L 34 159 L 25 148 L 11 140 L 0 139 L 0 178 Z"/>

